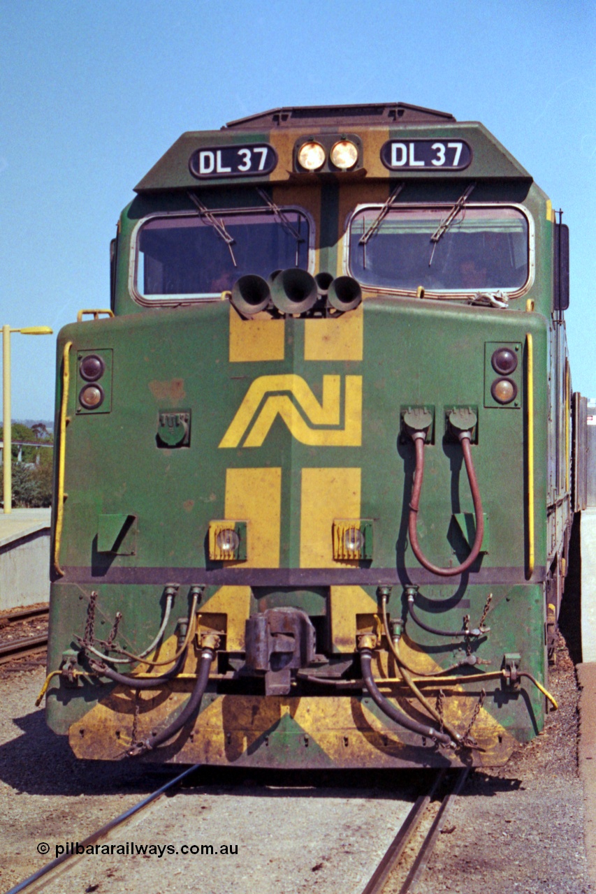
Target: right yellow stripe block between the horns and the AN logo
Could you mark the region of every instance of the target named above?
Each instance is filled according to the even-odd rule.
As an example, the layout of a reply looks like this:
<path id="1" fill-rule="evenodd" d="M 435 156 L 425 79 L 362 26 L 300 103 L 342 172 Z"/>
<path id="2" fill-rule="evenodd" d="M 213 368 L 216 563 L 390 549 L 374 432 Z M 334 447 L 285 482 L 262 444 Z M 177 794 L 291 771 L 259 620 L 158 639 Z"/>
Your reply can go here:
<path id="1" fill-rule="evenodd" d="M 364 306 L 342 316 L 304 320 L 305 360 L 362 360 Z"/>

